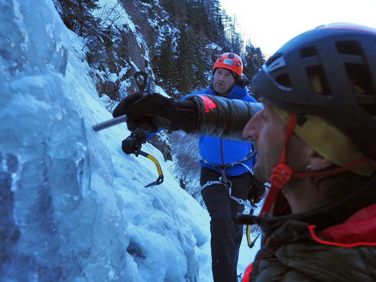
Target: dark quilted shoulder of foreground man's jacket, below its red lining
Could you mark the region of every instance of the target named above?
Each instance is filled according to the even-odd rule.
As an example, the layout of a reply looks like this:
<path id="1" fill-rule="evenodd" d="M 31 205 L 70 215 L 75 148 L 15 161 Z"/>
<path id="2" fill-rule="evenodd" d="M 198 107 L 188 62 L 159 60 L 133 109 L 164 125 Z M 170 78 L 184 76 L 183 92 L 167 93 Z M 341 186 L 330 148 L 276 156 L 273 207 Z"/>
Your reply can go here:
<path id="1" fill-rule="evenodd" d="M 376 205 L 373 209 L 375 213 Z M 372 220 L 375 222 L 376 217 Z M 243 281 L 376 281 L 376 241 L 373 245 L 330 245 L 331 241 L 316 241 L 308 228 L 304 222 L 285 221 L 269 236 L 258 252 L 252 273 Z"/>

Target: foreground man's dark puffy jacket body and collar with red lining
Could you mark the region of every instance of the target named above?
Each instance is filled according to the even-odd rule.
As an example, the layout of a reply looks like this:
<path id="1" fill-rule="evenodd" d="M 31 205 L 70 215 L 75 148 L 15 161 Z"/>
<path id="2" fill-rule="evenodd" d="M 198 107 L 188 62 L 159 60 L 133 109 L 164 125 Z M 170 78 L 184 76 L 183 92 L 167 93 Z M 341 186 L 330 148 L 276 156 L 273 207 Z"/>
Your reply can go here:
<path id="1" fill-rule="evenodd" d="M 375 282 L 375 191 L 376 177 L 305 215 L 250 218 L 264 237 L 243 282 Z"/>

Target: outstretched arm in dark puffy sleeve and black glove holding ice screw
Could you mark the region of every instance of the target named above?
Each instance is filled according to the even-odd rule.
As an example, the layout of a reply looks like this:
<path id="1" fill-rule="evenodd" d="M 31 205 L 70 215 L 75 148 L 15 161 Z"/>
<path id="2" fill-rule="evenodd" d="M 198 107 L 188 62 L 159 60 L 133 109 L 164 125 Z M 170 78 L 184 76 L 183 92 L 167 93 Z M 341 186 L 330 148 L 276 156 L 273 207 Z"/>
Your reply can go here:
<path id="1" fill-rule="evenodd" d="M 128 96 L 115 109 L 114 118 L 127 115 L 128 129 L 141 128 L 145 132 L 159 129 L 184 130 L 190 134 L 208 135 L 246 141 L 242 131 L 248 120 L 262 105 L 230 100 L 211 95 L 192 95 L 180 101 L 152 94 L 139 101 Z"/>

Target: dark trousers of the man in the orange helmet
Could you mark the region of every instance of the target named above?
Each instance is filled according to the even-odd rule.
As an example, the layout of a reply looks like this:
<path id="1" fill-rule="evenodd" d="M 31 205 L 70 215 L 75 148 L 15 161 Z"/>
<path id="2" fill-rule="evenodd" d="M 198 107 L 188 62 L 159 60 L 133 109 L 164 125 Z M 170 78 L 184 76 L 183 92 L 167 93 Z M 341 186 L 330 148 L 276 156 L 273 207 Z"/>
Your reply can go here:
<path id="1" fill-rule="evenodd" d="M 203 167 L 201 169 L 201 186 L 208 181 L 217 181 L 221 174 Z M 229 176 L 233 182 L 232 195 L 243 200 L 247 199 L 251 188 L 250 172 L 239 176 Z M 211 232 L 211 270 L 214 282 L 236 282 L 236 265 L 239 248 L 243 237 L 243 225 L 235 224 L 234 215 L 244 211 L 229 198 L 229 190 L 222 184 L 207 186 L 202 197 L 209 211 Z"/>

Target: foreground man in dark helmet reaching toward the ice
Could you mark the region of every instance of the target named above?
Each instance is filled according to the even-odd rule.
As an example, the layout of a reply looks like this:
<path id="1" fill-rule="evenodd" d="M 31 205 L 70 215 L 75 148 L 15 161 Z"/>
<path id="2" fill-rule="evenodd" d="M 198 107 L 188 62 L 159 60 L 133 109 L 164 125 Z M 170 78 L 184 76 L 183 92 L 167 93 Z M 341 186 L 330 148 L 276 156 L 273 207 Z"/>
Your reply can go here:
<path id="1" fill-rule="evenodd" d="M 243 282 L 376 281 L 375 42 L 375 28 L 356 24 L 298 35 L 252 79 L 263 106 L 214 97 L 206 111 L 200 96 L 154 96 L 142 106 L 158 101 L 164 112 L 139 113 L 137 96 L 124 101 L 139 125 L 147 114 L 150 124 L 163 117 L 167 128 L 255 141 L 255 177 L 271 187 L 259 217 L 237 216 L 263 232 Z"/>

